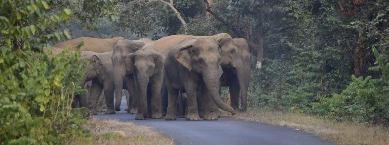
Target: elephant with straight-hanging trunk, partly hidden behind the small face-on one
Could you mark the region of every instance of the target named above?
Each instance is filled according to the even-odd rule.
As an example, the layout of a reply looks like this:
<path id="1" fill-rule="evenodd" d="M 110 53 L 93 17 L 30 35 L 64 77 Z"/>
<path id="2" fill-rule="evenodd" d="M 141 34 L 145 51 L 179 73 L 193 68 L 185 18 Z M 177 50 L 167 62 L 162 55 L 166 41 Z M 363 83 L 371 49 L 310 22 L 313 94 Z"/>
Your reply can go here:
<path id="1" fill-rule="evenodd" d="M 126 89 L 130 92 L 130 96 L 136 96 L 134 90 L 134 80 L 132 73 L 126 71 L 125 57 L 129 53 L 133 53 L 136 50 L 142 48 L 145 44 L 152 42 L 150 39 L 139 40 L 118 40 L 113 46 L 113 53 L 111 61 L 113 64 L 113 79 L 115 88 L 115 110 L 120 111 L 120 104 L 122 102 L 122 89 Z M 128 98 L 130 105 L 128 112 L 136 114 L 136 98 Z"/>

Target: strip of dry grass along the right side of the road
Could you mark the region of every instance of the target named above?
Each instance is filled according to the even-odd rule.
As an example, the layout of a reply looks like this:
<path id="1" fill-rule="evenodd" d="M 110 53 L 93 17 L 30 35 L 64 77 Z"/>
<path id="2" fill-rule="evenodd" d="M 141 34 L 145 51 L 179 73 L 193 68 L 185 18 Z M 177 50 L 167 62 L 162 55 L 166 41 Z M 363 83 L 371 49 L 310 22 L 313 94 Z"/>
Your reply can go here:
<path id="1" fill-rule="evenodd" d="M 260 109 L 251 109 L 232 117 L 297 128 L 339 144 L 389 144 L 389 129 L 382 126 L 334 122 L 301 113 Z"/>

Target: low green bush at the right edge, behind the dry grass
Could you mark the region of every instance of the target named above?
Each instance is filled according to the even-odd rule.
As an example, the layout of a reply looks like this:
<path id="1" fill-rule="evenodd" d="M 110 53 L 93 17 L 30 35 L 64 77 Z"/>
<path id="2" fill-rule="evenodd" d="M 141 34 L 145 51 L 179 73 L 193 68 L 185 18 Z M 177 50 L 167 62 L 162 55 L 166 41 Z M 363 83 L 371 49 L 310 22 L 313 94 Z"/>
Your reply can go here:
<path id="1" fill-rule="evenodd" d="M 351 83 L 341 94 L 333 94 L 331 98 L 319 97 L 320 101 L 313 103 L 313 112 L 337 120 L 356 122 L 389 119 L 389 63 L 385 62 L 374 48 L 377 66 L 370 70 L 379 71 L 380 77 L 352 76 Z"/>

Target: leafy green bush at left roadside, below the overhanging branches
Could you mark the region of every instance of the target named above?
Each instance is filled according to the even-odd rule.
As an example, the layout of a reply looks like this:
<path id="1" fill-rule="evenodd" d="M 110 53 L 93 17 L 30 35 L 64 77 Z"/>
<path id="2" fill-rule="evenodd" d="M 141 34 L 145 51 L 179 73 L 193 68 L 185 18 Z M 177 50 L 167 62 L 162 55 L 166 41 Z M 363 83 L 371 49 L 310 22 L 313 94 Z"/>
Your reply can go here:
<path id="1" fill-rule="evenodd" d="M 0 49 L 3 143 L 60 143 L 70 132 L 82 131 L 82 114 L 70 107 L 74 93 L 81 90 L 85 70 L 80 55 L 65 51 L 51 58 L 45 53 Z"/>

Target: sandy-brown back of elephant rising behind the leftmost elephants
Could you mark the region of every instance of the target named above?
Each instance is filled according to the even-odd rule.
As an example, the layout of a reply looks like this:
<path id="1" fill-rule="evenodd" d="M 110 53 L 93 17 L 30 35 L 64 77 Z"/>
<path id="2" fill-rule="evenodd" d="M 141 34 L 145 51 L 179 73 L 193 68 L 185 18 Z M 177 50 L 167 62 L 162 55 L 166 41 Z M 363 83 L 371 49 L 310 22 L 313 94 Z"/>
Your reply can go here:
<path id="1" fill-rule="evenodd" d="M 75 51 L 75 47 L 81 42 L 84 41 L 84 45 L 81 46 L 80 50 L 82 51 L 93 51 L 97 53 L 103 53 L 113 50 L 113 45 L 118 40 L 124 39 L 123 37 L 113 37 L 111 39 L 102 39 L 102 38 L 91 38 L 91 37 L 80 37 L 76 39 L 71 39 L 67 41 L 60 42 L 54 47 L 57 48 L 66 48 L 71 47 L 70 51 Z"/>

